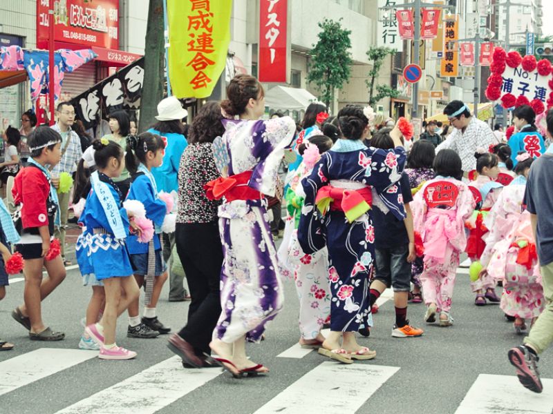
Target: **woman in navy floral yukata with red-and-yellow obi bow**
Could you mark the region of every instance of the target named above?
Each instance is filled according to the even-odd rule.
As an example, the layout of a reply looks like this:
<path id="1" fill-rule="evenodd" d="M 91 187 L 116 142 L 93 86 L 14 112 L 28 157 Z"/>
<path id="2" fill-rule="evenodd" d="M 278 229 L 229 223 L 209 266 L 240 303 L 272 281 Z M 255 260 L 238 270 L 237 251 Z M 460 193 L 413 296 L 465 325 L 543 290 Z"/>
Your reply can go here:
<path id="1" fill-rule="evenodd" d="M 342 136 L 302 181 L 306 199 L 298 239 L 307 254 L 328 247 L 330 335 L 319 353 L 350 364 L 376 355 L 355 340 L 359 324 L 370 317 L 368 283 L 375 257 L 371 205 L 405 219 L 397 181 L 406 154 L 397 126 L 390 132 L 393 150 L 364 146 L 368 119 L 361 106 L 346 106 L 338 119 Z"/>

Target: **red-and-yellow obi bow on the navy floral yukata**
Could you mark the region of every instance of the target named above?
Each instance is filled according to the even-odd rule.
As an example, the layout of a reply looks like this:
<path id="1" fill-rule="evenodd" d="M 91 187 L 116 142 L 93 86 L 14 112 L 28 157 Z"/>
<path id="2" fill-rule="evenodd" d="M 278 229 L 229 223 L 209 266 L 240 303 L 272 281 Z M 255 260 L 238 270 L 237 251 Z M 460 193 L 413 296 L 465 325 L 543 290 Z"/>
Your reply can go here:
<path id="1" fill-rule="evenodd" d="M 343 211 L 351 223 L 371 209 L 373 195 L 370 187 L 346 190 L 345 188 L 324 186 L 317 191 L 315 204 L 323 215 L 326 214 L 328 208 Z"/>

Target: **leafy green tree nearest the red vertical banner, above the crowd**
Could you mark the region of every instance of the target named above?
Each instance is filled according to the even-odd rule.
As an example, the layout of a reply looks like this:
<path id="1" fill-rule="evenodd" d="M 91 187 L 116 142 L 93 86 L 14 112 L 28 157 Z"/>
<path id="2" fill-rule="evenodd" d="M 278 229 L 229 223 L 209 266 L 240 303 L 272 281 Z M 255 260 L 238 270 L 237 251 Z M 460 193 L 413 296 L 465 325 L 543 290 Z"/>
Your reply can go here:
<path id="1" fill-rule="evenodd" d="M 319 41 L 311 50 L 311 61 L 307 81 L 315 83 L 319 90 L 319 99 L 328 107 L 334 100 L 336 88 L 342 88 L 350 79 L 351 64 L 351 30 L 341 27 L 339 21 L 324 19 L 319 21 L 321 32 Z"/>

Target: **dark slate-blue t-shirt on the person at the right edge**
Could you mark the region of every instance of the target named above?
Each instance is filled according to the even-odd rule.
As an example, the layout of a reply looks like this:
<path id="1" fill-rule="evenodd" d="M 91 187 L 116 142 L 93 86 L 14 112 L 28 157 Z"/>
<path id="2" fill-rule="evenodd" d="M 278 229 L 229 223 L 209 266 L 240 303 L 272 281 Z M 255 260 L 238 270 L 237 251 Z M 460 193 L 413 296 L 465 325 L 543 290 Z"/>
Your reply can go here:
<path id="1" fill-rule="evenodd" d="M 529 213 L 538 216 L 536 244 L 540 266 L 553 262 L 553 155 L 544 154 L 532 163 L 524 204 Z"/>

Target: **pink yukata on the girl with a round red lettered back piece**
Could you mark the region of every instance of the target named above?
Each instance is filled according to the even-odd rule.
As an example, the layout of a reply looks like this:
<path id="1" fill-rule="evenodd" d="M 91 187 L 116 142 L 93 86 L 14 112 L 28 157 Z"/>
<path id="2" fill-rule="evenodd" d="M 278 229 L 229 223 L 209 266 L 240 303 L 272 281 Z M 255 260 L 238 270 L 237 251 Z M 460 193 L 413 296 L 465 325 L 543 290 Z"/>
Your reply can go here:
<path id="1" fill-rule="evenodd" d="M 440 182 L 457 188 L 452 206 L 433 201 L 427 187 Z M 436 304 L 438 312 L 451 311 L 451 297 L 459 266 L 459 255 L 465 250 L 465 220 L 474 210 L 475 202 L 466 184 L 452 177 L 436 177 L 427 181 L 413 197 L 414 228 L 424 244 L 424 270 L 420 275 L 424 303 Z"/>

